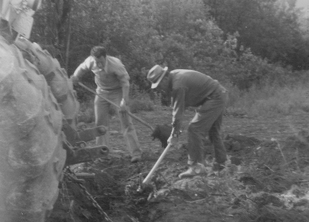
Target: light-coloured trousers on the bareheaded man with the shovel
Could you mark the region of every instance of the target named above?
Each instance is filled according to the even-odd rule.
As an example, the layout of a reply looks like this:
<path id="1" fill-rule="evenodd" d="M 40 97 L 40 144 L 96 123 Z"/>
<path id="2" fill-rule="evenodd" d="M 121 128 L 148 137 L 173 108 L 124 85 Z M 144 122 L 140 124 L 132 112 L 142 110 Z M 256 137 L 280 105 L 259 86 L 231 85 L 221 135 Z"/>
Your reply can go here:
<path id="1" fill-rule="evenodd" d="M 122 99 L 122 89 L 116 90 L 100 90 L 99 95 L 102 95 L 104 98 L 111 100 L 116 104 L 120 104 Z M 95 96 L 94 101 L 95 108 L 95 125 L 96 126 L 106 126 L 109 128 L 110 119 L 111 119 L 111 110 L 114 110 L 117 116 L 120 118 L 121 122 L 121 131 L 126 141 L 126 150 L 130 153 L 131 156 L 137 156 L 141 154 L 140 145 L 138 142 L 138 137 L 136 130 L 133 126 L 132 119 L 127 112 L 119 112 L 119 109 L 114 105 L 110 104 L 106 100 L 102 99 L 98 95 Z M 99 136 L 96 138 L 97 145 L 106 145 L 108 146 L 108 134 Z"/>

